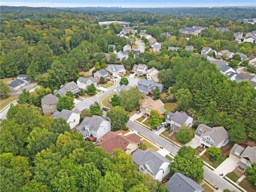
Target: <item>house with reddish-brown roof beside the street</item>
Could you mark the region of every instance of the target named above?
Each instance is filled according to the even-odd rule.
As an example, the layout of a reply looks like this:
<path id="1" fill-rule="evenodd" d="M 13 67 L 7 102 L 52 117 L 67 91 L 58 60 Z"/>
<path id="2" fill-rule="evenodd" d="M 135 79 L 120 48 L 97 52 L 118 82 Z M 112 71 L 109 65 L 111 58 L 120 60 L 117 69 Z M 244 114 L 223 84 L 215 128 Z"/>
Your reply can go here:
<path id="1" fill-rule="evenodd" d="M 135 133 L 122 135 L 121 131 L 109 131 L 99 139 L 96 145 L 102 147 L 109 154 L 112 154 L 113 150 L 117 148 L 121 148 L 126 154 L 131 154 L 138 149 L 141 141 Z"/>

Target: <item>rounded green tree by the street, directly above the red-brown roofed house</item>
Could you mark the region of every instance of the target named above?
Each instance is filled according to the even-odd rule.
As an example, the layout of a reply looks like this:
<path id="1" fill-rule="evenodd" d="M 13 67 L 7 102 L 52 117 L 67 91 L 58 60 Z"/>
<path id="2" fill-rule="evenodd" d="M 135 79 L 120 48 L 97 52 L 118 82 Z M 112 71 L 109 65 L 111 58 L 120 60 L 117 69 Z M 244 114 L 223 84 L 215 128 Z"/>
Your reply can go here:
<path id="1" fill-rule="evenodd" d="M 129 120 L 129 112 L 125 111 L 123 107 L 115 106 L 107 111 L 107 117 L 111 121 L 111 131 L 125 129 L 126 123 Z"/>

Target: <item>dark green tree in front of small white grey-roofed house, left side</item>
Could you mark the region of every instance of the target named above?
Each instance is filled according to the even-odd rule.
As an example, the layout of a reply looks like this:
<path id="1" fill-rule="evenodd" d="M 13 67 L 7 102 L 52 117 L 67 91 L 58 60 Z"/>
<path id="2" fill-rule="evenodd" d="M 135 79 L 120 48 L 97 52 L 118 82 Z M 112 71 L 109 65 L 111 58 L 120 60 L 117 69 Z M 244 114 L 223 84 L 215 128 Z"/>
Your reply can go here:
<path id="1" fill-rule="evenodd" d="M 69 124 L 63 118 L 54 118 L 51 125 L 49 126 L 49 131 L 57 134 L 64 133 L 65 131 L 70 131 Z"/>

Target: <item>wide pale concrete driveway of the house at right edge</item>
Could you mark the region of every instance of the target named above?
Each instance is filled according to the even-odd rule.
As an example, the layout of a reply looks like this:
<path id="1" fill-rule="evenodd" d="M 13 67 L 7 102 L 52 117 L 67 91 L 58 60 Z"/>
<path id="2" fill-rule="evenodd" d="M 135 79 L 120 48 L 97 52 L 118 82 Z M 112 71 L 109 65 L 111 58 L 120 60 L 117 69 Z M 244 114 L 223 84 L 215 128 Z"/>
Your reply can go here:
<path id="1" fill-rule="evenodd" d="M 236 168 L 236 164 L 239 162 L 239 159 L 237 159 L 235 156 L 230 155 L 225 161 L 223 161 L 217 169 L 215 169 L 213 172 L 217 174 L 223 173 L 223 175 L 226 175 L 227 173 L 233 171 Z"/>

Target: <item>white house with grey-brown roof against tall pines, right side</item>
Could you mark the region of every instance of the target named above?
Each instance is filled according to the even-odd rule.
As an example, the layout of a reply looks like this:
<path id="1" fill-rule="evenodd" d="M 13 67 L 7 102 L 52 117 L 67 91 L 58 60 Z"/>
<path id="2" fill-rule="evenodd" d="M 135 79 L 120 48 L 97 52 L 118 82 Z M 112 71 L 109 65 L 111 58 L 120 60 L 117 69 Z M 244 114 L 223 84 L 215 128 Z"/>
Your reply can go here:
<path id="1" fill-rule="evenodd" d="M 221 148 L 229 142 L 228 132 L 223 126 L 209 127 L 204 124 L 199 124 L 195 131 L 195 138 L 199 139 L 199 144 L 203 147 L 218 147 Z"/>

